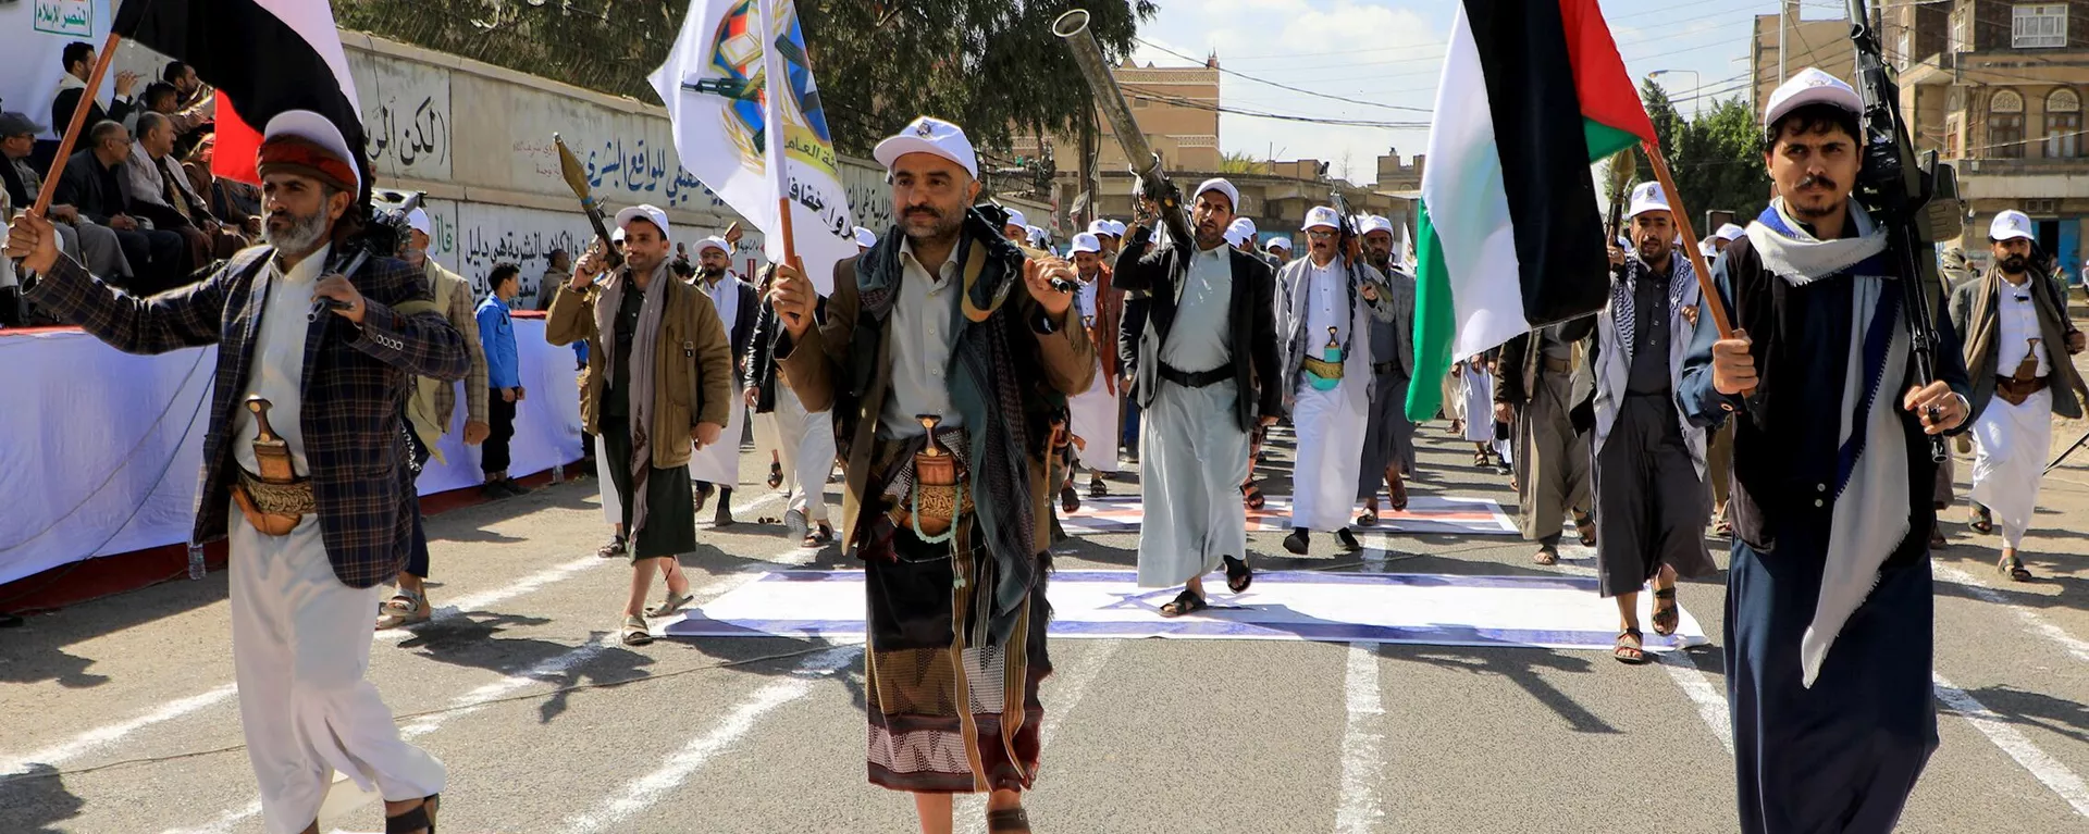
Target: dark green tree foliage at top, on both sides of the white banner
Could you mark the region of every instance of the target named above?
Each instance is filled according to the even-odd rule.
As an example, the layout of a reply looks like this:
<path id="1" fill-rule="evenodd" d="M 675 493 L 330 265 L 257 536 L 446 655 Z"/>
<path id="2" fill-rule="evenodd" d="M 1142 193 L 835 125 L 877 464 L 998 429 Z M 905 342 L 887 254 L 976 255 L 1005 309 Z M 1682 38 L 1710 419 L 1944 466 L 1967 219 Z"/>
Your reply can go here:
<path id="1" fill-rule="evenodd" d="M 566 84 L 658 100 L 646 75 L 666 61 L 687 0 L 334 0 L 345 29 Z M 976 144 L 1067 130 L 1088 88 L 1051 23 L 1086 8 L 1103 54 L 1132 50 L 1153 0 L 798 0 L 836 148 L 867 157 L 917 115 Z"/>

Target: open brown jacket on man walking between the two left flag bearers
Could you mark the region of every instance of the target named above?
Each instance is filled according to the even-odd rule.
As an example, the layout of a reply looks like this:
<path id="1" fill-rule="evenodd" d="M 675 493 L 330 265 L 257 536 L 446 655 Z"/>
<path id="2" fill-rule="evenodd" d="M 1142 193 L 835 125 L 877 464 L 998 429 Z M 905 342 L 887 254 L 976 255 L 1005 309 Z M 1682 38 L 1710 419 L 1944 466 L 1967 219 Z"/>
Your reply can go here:
<path id="1" fill-rule="evenodd" d="M 581 372 L 581 424 L 589 435 L 600 433 L 602 389 L 608 387 L 604 357 L 610 355 L 610 339 L 616 334 L 595 332 L 595 299 L 600 286 L 577 291 L 562 284 L 551 297 L 551 311 L 543 326 L 543 339 L 551 345 L 572 345 L 587 339 L 587 370 Z M 654 385 L 654 431 L 652 437 L 683 437 L 681 443 L 654 443 L 654 468 L 677 468 L 689 464 L 689 431 L 698 422 L 725 426 L 731 408 L 740 403 L 733 378 L 733 345 L 725 339 L 725 322 L 710 305 L 710 297 L 696 286 L 666 278 L 666 307 L 660 311 L 660 357 L 654 370 L 660 378 Z M 737 443 L 737 437 L 723 437 L 719 443 Z"/>

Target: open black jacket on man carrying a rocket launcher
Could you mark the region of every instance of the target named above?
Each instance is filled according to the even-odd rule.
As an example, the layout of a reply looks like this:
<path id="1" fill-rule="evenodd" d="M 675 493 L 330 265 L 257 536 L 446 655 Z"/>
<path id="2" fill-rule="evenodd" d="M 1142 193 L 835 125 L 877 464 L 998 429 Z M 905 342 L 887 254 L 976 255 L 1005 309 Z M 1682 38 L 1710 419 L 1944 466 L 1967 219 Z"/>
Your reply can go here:
<path id="1" fill-rule="evenodd" d="M 1124 251 L 1118 253 L 1111 278 L 1122 291 L 1147 293 L 1147 326 L 1141 339 L 1151 343 L 1147 347 L 1159 357 L 1159 349 L 1168 343 L 1168 332 L 1174 328 L 1176 301 L 1189 276 L 1191 247 L 1195 245 L 1191 240 L 1176 240 L 1172 247 L 1155 249 L 1151 255 L 1141 257 L 1139 253 L 1147 251 L 1147 240 L 1151 238 L 1151 228 L 1132 232 L 1130 240 L 1124 240 Z M 1276 274 L 1260 257 L 1241 253 L 1239 249 L 1226 247 L 1226 257 L 1233 261 L 1233 303 L 1228 316 L 1233 330 L 1233 380 L 1241 391 L 1233 416 L 1239 420 L 1241 431 L 1253 431 L 1260 422 L 1258 418 L 1285 414 L 1285 397 L 1278 383 L 1283 374 L 1276 370 Z M 1153 395 L 1161 383 L 1159 376 L 1159 368 L 1139 368 L 1139 406 L 1153 406 Z M 1258 380 L 1262 383 L 1260 389 L 1255 387 Z"/>

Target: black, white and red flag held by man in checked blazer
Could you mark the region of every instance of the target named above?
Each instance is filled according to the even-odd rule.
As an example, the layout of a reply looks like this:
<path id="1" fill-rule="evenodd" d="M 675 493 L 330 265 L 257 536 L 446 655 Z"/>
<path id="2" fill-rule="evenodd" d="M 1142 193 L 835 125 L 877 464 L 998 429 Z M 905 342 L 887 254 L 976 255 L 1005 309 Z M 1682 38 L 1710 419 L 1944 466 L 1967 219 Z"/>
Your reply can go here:
<path id="1" fill-rule="evenodd" d="M 261 130 L 284 111 L 313 111 L 363 146 L 355 77 L 328 0 L 123 0 L 113 25 L 217 88 L 211 173 L 259 184 Z M 361 155 L 357 155 L 361 157 Z M 370 196 L 370 159 L 357 159 Z"/>

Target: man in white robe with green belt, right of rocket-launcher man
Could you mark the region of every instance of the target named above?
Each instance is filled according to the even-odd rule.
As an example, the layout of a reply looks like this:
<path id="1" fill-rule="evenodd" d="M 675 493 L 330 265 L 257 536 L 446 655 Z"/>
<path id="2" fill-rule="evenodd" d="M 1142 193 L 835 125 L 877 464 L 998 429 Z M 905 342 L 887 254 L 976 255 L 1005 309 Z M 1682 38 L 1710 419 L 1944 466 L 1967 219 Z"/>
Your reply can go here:
<path id="1" fill-rule="evenodd" d="M 1306 213 L 1306 240 L 1310 255 L 1276 276 L 1281 391 L 1293 397 L 1297 435 L 1285 550 L 1299 556 L 1316 529 L 1335 531 L 1345 550 L 1362 550 L 1349 533 L 1349 508 L 1377 387 L 1370 322 L 1393 314 L 1385 276 L 1341 251 L 1356 240 L 1343 234 L 1335 209 L 1316 205 Z"/>

